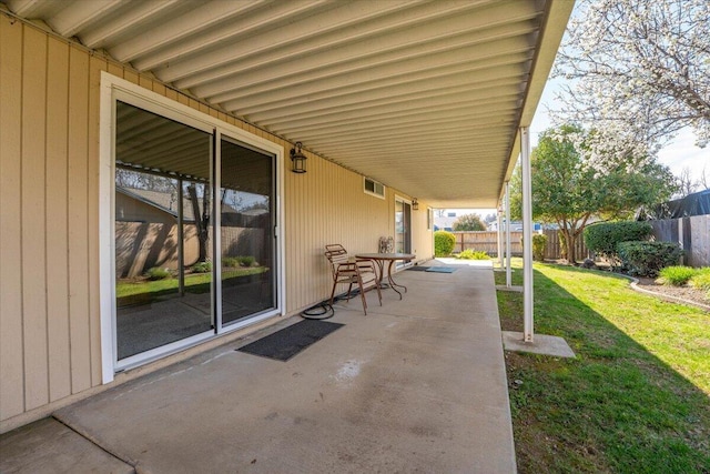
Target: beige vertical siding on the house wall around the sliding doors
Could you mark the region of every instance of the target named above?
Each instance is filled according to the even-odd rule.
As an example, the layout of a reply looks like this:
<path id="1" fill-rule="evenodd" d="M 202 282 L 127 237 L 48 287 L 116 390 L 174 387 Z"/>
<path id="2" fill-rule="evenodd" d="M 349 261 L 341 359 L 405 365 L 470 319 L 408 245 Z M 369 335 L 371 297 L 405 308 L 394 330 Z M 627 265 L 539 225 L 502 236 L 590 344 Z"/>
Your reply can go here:
<path id="1" fill-rule="evenodd" d="M 290 143 L 0 14 L 0 431 L 101 384 L 99 252 L 110 244 L 99 241 L 101 71 L 284 148 L 288 314 L 329 295 L 325 244 L 372 252 L 394 234 L 395 190 L 365 194 L 361 175 L 310 153 L 308 172 L 291 173 Z M 427 259 L 420 205 L 413 242 Z"/>

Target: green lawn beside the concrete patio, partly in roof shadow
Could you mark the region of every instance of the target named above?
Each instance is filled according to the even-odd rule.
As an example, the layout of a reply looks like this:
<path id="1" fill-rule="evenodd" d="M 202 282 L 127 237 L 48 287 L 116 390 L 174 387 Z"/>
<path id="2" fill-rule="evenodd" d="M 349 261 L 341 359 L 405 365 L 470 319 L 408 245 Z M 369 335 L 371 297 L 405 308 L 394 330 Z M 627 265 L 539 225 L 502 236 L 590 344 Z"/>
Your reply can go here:
<path id="1" fill-rule="evenodd" d="M 523 295 L 498 292 L 498 306 L 503 329 L 521 331 Z M 709 313 L 536 264 L 535 329 L 577 359 L 506 352 L 521 473 L 710 473 Z"/>

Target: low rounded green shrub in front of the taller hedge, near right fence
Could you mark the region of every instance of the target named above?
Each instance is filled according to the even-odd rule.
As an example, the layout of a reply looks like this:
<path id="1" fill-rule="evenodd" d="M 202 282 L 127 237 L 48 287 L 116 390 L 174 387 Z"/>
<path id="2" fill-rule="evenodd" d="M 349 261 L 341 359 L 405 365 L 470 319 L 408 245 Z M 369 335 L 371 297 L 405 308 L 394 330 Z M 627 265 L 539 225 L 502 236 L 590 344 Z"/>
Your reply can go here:
<path id="1" fill-rule="evenodd" d="M 623 266 L 639 276 L 657 276 L 661 269 L 678 263 L 683 254 L 676 242 L 621 242 L 618 249 Z"/>

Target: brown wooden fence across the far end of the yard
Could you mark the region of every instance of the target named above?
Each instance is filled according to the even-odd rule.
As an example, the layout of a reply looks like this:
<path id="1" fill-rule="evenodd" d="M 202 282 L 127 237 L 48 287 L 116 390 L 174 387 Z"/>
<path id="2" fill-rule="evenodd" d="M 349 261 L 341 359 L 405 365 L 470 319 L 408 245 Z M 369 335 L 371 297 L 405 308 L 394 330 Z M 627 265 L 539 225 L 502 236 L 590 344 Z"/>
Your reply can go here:
<path id="1" fill-rule="evenodd" d="M 454 245 L 454 252 L 463 252 L 465 250 L 471 249 L 475 251 L 484 251 L 488 253 L 490 256 L 498 256 L 498 232 L 497 231 L 476 231 L 476 232 L 452 232 L 456 235 L 456 245 Z M 559 238 L 557 236 L 556 230 L 546 230 L 544 231 L 545 235 L 547 235 L 547 246 L 545 248 L 545 258 L 555 260 L 560 259 L 561 250 L 559 245 Z M 505 233 L 504 233 L 504 249 L 505 252 Z M 516 256 L 523 255 L 523 245 L 520 244 L 520 239 L 523 238 L 523 232 L 513 231 L 510 232 L 510 254 Z M 577 248 L 577 256 L 586 258 L 587 256 L 587 246 L 585 245 L 584 239 L 581 235 L 577 240 L 575 245 Z"/>

